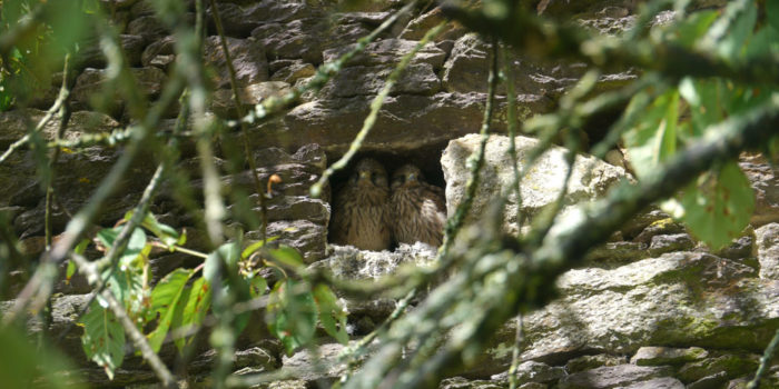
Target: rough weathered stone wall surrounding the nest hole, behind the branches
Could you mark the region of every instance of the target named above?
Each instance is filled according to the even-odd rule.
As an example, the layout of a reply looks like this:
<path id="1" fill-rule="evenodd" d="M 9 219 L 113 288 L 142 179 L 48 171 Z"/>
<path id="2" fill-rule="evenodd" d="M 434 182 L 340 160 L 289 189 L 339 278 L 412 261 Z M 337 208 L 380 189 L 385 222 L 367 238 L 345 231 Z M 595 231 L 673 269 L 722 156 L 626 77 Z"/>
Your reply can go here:
<path id="1" fill-rule="evenodd" d="M 161 28 L 151 8 L 144 1 L 116 1 L 115 21 L 122 28 L 121 44 L 134 67 L 140 89 L 151 99 L 158 97 L 166 72 L 175 60 L 172 38 Z M 613 33 L 631 26 L 633 1 L 582 1 L 565 6 L 552 2 L 549 13 L 573 19 L 583 26 Z M 362 9 L 343 10 L 332 1 L 217 1 L 224 20 L 228 47 L 237 71 L 243 103 L 246 107 L 274 93 L 305 82 L 315 68 L 347 51 L 392 12 L 401 1 L 367 1 Z M 703 6 L 712 6 L 711 1 Z M 721 6 L 713 3 L 713 6 Z M 193 9 L 190 8 L 190 11 Z M 209 17 L 211 10 L 208 10 Z M 348 63 L 318 96 L 305 96 L 302 104 L 282 118 L 249 128 L 253 158 L 262 182 L 279 174 L 268 205 L 268 233 L 279 242 L 300 250 L 314 267 L 334 269 L 349 278 L 376 278 L 405 262 L 425 263 L 434 252 L 424 245 L 403 245 L 393 251 L 369 252 L 327 245 L 329 188 L 323 199 L 308 196 L 308 188 L 322 174 L 328 160 L 347 149 L 368 112 L 373 96 L 400 58 L 418 41 L 427 28 L 442 21 L 436 9 L 420 9 L 371 43 L 364 54 Z M 217 88 L 210 110 L 223 118 L 235 118 L 229 80 L 215 28 L 204 49 L 204 61 L 214 70 Z M 85 68 L 73 90 L 73 118 L 67 139 L 101 133 L 127 124 L 128 113 L 119 98 L 95 99 L 105 83 L 106 66 L 100 51 L 86 50 Z M 582 63 L 551 63 L 522 54 L 511 58 L 515 67 L 515 90 L 521 117 L 548 112 L 555 107 L 578 77 L 586 70 Z M 406 161 L 423 167 L 434 183 L 446 186 L 450 212 L 462 199 L 465 182 L 464 161 L 474 146 L 486 100 L 487 44 L 456 24 L 423 48 L 385 101 L 375 128 L 361 153 L 377 158 L 388 170 Z M 604 74 L 599 89 L 608 90 L 634 79 L 630 71 Z M 61 78 L 61 77 L 60 77 Z M 0 149 L 6 149 L 26 132 L 26 119 L 37 121 L 57 96 L 61 80 L 41 93 L 30 108 L 0 113 Z M 499 110 L 493 129 L 504 130 L 504 91 L 499 91 Z M 176 109 L 159 131 L 172 127 Z M 608 118 L 605 119 L 608 122 Z M 43 133 L 52 139 L 56 128 Z M 603 128 L 593 127 L 591 139 Z M 249 171 L 229 174 L 229 151 L 225 143 L 240 141 L 239 132 L 228 132 L 216 144 L 217 166 L 223 182 L 253 193 Z M 461 138 L 462 137 L 462 138 Z M 487 148 L 484 186 L 480 189 L 471 218 L 477 218 L 510 174 L 506 139 L 493 137 Z M 520 151 L 533 146 L 520 138 Z M 445 151 L 444 151 L 445 149 Z M 523 151 L 524 150 L 524 151 Z M 56 169 L 53 229 L 62 231 L 68 215 L 85 205 L 121 148 L 91 147 L 82 152 L 65 152 Z M 184 143 L 178 170 L 193 177 L 196 192 L 201 189 L 199 166 L 191 143 Z M 442 159 L 443 153 L 443 159 Z M 543 168 L 531 174 L 523 187 L 522 212 L 535 215 L 555 197 L 550 182 L 563 173 L 561 151 L 553 150 Z M 149 156 L 151 157 L 151 156 Z M 590 157 L 581 158 L 581 169 L 595 166 L 596 179 L 585 171 L 574 172 L 574 184 L 566 206 L 600 197 L 614 182 L 628 179 L 625 171 Z M 442 170 L 443 163 L 443 170 Z M 584 168 L 586 167 L 586 168 Z M 613 239 L 590 253 L 589 266 L 571 270 L 558 280 L 560 298 L 524 318 L 527 346 L 517 375 L 521 388 L 739 388 L 757 366 L 758 353 L 779 327 L 779 180 L 777 170 L 759 156 L 745 156 L 741 167 L 748 172 L 758 196 L 753 229 L 720 252 L 709 252 L 683 226 L 659 210 L 648 210 L 627 225 Z M 131 209 L 154 172 L 154 158 L 141 158 L 121 189 L 108 202 L 96 221 L 112 226 Z M 509 169 L 509 170 L 506 170 Z M 333 179 L 333 187 L 343 173 Z M 0 164 L 0 212 L 12 220 L 26 253 L 34 258 L 42 250 L 43 199 L 38 184 L 32 151 L 18 151 Z M 526 192 L 525 192 L 526 191 Z M 249 200 L 254 202 L 253 194 Z M 193 228 L 191 215 L 175 206 L 170 190 L 155 200 L 151 210 L 176 228 Z M 258 212 L 257 209 L 254 211 Z M 510 203 L 507 215 L 516 215 Z M 515 232 L 515 219 L 505 229 Z M 191 230 L 188 247 L 203 248 L 198 231 Z M 249 238 L 257 239 L 256 232 Z M 97 252 L 88 255 L 96 257 Z M 198 260 L 179 253 L 158 252 L 152 258 L 155 277 Z M 23 275 L 12 280 L 11 292 L 23 285 Z M 55 299 L 53 333 L 63 329 L 86 303 L 90 289 L 83 280 L 59 282 Z M 7 307 L 7 302 L 3 307 Z M 393 310 L 394 301 L 349 301 L 349 326 L 354 339 L 373 330 Z M 2 309 L 2 308 L 0 308 Z M 31 331 L 40 325 L 31 322 Z M 444 381 L 442 388 L 504 388 L 511 358 L 515 323 L 506 325 L 477 365 Z M 90 365 L 82 355 L 72 330 L 61 347 L 81 363 L 81 372 L 97 387 L 154 387 L 155 377 L 138 357 L 128 356 L 114 381 Z M 329 361 L 342 350 L 324 338 L 322 355 Z M 325 371 L 313 369 L 310 356 L 300 351 L 283 356 L 279 343 L 265 330 L 262 315 L 253 321 L 238 342 L 235 369 L 240 373 L 285 367 L 298 371 L 297 380 L 275 382 L 270 387 L 310 388 L 317 381 L 332 382 L 344 372 L 332 365 Z M 197 385 L 208 385 L 208 368 L 214 353 L 204 352 L 189 366 Z M 161 355 L 170 363 L 175 349 Z M 327 357 L 331 357 L 329 359 Z M 768 387 L 779 387 L 776 366 Z"/>

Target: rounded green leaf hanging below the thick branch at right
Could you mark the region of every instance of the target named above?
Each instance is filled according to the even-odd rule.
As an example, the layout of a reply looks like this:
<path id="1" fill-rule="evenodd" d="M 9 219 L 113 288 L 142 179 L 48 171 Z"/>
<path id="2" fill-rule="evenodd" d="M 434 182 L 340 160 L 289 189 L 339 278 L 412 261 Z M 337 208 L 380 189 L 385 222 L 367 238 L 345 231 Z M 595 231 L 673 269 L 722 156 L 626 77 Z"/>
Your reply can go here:
<path id="1" fill-rule="evenodd" d="M 719 173 L 709 171 L 687 188 L 681 199 L 683 220 L 691 232 L 712 250 L 738 238 L 755 211 L 755 193 L 736 162 Z"/>

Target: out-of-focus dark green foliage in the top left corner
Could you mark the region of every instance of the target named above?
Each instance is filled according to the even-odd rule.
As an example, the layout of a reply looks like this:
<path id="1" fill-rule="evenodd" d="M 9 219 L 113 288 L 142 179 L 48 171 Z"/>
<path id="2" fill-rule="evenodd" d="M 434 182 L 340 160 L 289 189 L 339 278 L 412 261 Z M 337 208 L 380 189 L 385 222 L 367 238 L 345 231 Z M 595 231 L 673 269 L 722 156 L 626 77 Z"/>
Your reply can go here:
<path id="1" fill-rule="evenodd" d="M 55 1 L 47 6 L 46 13 L 37 14 L 36 8 L 43 2 L 0 2 L 0 33 L 32 26 L 0 58 L 0 111 L 26 103 L 51 87 L 52 73 L 61 70 L 66 52 L 78 50 L 98 6 L 98 0 Z"/>

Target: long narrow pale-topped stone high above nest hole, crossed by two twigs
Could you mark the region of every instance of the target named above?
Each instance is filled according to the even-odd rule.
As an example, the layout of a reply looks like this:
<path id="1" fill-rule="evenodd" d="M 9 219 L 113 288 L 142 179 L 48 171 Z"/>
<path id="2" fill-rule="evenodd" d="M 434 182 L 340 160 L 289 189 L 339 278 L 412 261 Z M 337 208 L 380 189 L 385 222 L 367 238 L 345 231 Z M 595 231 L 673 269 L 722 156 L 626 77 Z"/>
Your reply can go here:
<path id="1" fill-rule="evenodd" d="M 354 49 L 356 43 L 336 47 L 325 50 L 323 59 L 325 62 L 333 62 L 338 57 Z M 405 39 L 384 39 L 376 42 L 371 42 L 363 52 L 353 57 L 347 66 L 364 66 L 372 67 L 378 64 L 396 64 L 401 58 L 411 52 L 416 46 L 415 41 Z M 422 48 L 411 60 L 411 63 L 430 63 L 434 70 L 443 67 L 446 53 L 432 43 Z"/>

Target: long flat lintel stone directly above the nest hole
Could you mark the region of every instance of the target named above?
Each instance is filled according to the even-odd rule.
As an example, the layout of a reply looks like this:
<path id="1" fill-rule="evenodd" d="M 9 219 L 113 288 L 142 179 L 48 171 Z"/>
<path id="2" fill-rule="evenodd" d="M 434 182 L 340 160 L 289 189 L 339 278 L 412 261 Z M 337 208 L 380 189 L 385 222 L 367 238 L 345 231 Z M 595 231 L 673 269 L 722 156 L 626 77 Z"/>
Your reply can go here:
<path id="1" fill-rule="evenodd" d="M 479 129 L 486 96 L 436 93 L 431 97 L 387 97 L 363 151 L 404 152 L 442 144 Z M 327 152 L 345 152 L 369 112 L 371 96 L 310 101 L 295 107 L 284 118 L 250 132 L 253 147 L 297 149 L 318 143 Z M 530 111 L 529 106 L 524 106 Z M 523 102 L 520 102 L 523 107 Z M 495 120 L 495 128 L 503 128 Z"/>

